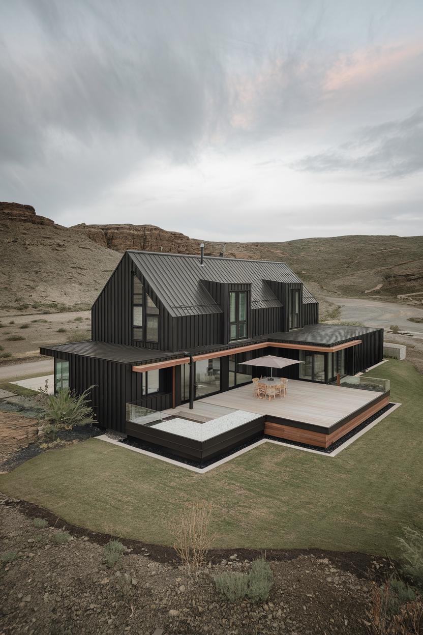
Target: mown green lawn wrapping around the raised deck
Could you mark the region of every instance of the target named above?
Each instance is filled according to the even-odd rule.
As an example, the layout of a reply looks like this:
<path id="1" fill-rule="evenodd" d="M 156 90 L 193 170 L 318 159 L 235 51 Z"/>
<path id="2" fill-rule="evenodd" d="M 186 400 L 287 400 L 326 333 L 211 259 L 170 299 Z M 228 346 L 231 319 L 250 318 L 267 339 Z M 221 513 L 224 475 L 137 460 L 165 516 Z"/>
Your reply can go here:
<path id="1" fill-rule="evenodd" d="M 0 490 L 67 521 L 170 544 L 185 501 L 214 503 L 216 546 L 322 547 L 396 556 L 401 526 L 423 526 L 423 377 L 405 361 L 370 372 L 403 404 L 337 457 L 270 443 L 195 474 L 91 439 L 0 476 Z"/>

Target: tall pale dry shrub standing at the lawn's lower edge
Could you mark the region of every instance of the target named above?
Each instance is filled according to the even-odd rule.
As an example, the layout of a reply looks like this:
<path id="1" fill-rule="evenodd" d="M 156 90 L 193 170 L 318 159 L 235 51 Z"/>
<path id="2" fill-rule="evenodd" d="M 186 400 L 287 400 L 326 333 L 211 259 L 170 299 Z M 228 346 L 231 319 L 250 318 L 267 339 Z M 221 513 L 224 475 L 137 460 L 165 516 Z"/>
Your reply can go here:
<path id="1" fill-rule="evenodd" d="M 212 505 L 203 500 L 184 505 L 171 526 L 173 548 L 190 575 L 197 577 L 214 540 L 210 531 Z"/>

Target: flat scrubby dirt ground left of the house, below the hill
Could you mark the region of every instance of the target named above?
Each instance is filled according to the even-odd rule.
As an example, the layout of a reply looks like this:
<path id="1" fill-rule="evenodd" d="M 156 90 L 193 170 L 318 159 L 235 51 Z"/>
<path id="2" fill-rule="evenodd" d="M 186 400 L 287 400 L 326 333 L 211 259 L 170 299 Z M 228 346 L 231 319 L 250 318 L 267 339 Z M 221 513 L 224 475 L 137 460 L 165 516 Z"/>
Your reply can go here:
<path id="1" fill-rule="evenodd" d="M 27 326 L 22 328 L 23 324 Z M 65 331 L 58 332 L 59 329 Z M 20 339 L 15 340 L 16 337 Z M 91 312 L 16 315 L 3 310 L 0 315 L 0 345 L 4 350 L 0 349 L 0 361 L 4 359 L 7 363 L 13 358 L 39 356 L 40 346 L 65 344 L 72 337 L 77 337 L 75 341 L 91 339 Z M 2 357 L 2 353 L 11 353 L 12 357 Z"/>

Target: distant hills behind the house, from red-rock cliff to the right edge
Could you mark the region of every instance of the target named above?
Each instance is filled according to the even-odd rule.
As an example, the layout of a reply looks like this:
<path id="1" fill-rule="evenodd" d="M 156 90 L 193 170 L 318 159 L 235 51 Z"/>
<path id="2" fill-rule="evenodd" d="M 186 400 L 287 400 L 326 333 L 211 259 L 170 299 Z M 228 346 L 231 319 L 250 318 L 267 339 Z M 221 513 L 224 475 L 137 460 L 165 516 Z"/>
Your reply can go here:
<path id="1" fill-rule="evenodd" d="M 117 251 L 140 249 L 198 253 L 200 240 L 154 225 L 75 225 L 96 244 Z M 423 300 L 423 236 L 337 236 L 284 243 L 211 243 L 205 254 L 283 260 L 315 293 L 392 300 Z M 313 286 L 316 285 L 316 286 Z M 417 295 L 410 295 L 417 294 Z"/>

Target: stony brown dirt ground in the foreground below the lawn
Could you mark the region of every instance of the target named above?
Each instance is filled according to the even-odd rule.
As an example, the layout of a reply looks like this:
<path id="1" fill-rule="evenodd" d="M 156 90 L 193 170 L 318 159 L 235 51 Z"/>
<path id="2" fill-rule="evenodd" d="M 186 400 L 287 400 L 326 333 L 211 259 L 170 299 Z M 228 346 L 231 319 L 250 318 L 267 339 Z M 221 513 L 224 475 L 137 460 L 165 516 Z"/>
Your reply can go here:
<path id="1" fill-rule="evenodd" d="M 368 632 L 374 574 L 355 575 L 323 555 L 269 560 L 275 577 L 270 597 L 230 604 L 217 594 L 213 576 L 247 570 L 250 563 L 240 554 L 209 563 L 195 581 L 178 561 L 158 563 L 146 548 L 138 554 L 127 551 L 108 569 L 103 547 L 92 536 L 81 532 L 56 544 L 63 523 L 37 529 L 19 502 L 5 497 L 0 502 L 0 554 L 16 554 L 0 564 L 2 635 L 152 635 L 155 629 L 164 629 L 164 635 Z"/>

